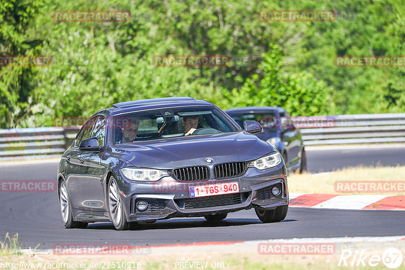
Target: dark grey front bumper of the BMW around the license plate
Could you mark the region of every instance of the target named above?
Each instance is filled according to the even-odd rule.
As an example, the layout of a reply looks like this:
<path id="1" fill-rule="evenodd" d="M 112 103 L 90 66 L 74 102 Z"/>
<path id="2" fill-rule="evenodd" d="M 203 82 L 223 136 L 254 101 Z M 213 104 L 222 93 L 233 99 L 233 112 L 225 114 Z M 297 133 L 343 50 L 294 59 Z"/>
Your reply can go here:
<path id="1" fill-rule="evenodd" d="M 239 177 L 213 179 L 204 182 L 179 182 L 170 176 L 154 183 L 133 182 L 123 175 L 120 188 L 121 200 L 128 221 L 147 221 L 172 217 L 205 216 L 217 213 L 235 212 L 242 209 L 274 209 L 288 204 L 288 185 L 284 164 L 264 171 L 249 168 Z M 239 193 L 190 198 L 189 187 L 238 182 Z M 271 193 L 277 185 L 278 196 Z M 139 211 L 138 201 L 145 201 L 148 207 Z"/>

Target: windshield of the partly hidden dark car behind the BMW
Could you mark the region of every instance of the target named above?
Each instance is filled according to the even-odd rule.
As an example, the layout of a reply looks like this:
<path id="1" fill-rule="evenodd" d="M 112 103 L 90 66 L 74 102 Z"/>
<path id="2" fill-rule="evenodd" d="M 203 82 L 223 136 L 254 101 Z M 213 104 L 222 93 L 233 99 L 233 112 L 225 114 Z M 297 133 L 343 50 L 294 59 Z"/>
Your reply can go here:
<path id="1" fill-rule="evenodd" d="M 265 129 L 276 129 L 279 125 L 279 120 L 274 112 L 266 113 L 228 113 L 230 117 L 243 127 L 245 121 L 257 121 Z"/>

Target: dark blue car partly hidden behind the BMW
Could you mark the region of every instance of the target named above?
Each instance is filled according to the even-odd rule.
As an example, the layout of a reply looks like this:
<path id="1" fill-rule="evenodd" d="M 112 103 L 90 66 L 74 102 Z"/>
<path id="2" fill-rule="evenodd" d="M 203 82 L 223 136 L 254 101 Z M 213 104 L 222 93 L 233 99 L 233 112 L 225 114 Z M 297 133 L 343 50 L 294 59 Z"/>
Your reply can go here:
<path id="1" fill-rule="evenodd" d="M 245 121 L 257 121 L 263 131 L 256 133 L 282 155 L 287 169 L 306 171 L 306 155 L 301 132 L 294 126 L 290 114 L 280 107 L 240 107 L 225 111 L 241 127 Z"/>

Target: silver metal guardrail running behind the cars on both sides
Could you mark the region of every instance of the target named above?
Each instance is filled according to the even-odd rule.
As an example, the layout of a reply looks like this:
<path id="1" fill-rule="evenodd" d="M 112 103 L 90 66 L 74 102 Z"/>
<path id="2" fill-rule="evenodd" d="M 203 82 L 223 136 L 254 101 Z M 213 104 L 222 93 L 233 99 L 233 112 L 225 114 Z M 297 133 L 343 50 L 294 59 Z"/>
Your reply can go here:
<path id="1" fill-rule="evenodd" d="M 324 119 L 324 124 L 316 119 Z M 291 120 L 300 126 L 306 146 L 405 142 L 405 113 L 293 117 Z M 79 129 L 80 126 L 0 129 L 0 160 L 60 157 Z"/>

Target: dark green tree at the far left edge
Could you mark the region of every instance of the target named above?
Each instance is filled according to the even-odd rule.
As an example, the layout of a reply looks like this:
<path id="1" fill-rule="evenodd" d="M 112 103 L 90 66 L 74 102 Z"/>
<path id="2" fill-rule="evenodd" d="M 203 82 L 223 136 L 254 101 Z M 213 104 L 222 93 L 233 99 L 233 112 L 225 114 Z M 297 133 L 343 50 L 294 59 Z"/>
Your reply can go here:
<path id="1" fill-rule="evenodd" d="M 35 55 L 41 41 L 28 37 L 27 30 L 43 1 L 0 2 L 0 56 Z M 35 69 L 0 66 L 0 127 L 15 127 L 30 113 L 35 87 Z"/>

